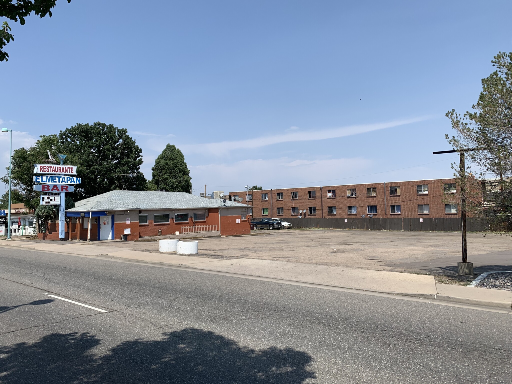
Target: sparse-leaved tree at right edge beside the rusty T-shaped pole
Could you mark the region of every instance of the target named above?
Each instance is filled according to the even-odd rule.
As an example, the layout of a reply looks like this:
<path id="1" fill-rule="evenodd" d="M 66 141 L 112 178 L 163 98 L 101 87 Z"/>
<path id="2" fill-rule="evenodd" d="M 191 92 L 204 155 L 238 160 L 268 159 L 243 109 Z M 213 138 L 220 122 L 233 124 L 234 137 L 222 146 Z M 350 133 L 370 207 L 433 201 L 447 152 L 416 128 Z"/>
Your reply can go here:
<path id="1" fill-rule="evenodd" d="M 482 79 L 482 92 L 473 111 L 446 113 L 456 131 L 456 136 L 446 135 L 446 139 L 457 150 L 468 150 L 473 169 L 486 179 L 487 202 L 479 201 L 480 194 L 469 196 L 471 213 L 490 219 L 494 229 L 511 232 L 512 52 L 499 52 L 492 63 L 496 71 Z"/>

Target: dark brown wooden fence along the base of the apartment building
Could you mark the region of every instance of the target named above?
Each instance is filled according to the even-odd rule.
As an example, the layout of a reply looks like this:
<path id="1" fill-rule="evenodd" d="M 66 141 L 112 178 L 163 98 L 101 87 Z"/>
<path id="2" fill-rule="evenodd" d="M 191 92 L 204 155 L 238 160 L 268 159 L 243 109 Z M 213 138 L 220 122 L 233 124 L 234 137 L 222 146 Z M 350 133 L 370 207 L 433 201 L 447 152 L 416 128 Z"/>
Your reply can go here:
<path id="1" fill-rule="evenodd" d="M 253 219 L 258 220 L 258 219 Z M 380 229 L 390 231 L 460 231 L 460 218 L 289 218 L 293 228 Z M 468 232 L 489 230 L 489 224 L 467 219 Z"/>

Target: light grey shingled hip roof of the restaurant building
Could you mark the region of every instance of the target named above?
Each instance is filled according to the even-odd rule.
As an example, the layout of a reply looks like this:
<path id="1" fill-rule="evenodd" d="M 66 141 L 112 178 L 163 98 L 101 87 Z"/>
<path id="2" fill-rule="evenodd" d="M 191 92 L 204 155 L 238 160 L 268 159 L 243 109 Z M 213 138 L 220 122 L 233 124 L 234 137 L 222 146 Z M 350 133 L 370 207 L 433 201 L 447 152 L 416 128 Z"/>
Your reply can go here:
<path id="1" fill-rule="evenodd" d="M 159 192 L 146 190 L 111 190 L 75 203 L 69 212 L 111 211 L 125 209 L 183 209 L 250 207 L 246 204 L 221 199 L 205 199 L 185 192 Z"/>

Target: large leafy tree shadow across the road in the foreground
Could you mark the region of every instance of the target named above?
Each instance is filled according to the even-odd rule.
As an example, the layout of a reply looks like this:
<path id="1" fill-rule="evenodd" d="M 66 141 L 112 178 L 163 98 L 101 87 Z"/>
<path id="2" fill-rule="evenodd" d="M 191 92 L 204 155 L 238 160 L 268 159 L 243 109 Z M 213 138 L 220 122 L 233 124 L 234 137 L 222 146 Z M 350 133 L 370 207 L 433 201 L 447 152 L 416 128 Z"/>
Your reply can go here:
<path id="1" fill-rule="evenodd" d="M 89 333 L 54 333 L 0 347 L 1 383 L 302 383 L 312 357 L 292 348 L 254 350 L 195 328 L 130 340 L 101 356 Z"/>

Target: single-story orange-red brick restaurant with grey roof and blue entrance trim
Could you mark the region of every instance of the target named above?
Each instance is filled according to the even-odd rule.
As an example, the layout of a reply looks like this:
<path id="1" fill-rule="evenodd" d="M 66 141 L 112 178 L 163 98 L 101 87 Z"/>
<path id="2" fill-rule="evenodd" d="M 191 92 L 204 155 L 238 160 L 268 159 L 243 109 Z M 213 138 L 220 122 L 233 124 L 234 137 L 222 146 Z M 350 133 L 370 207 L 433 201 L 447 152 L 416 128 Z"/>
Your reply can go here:
<path id="1" fill-rule="evenodd" d="M 113 190 L 75 205 L 66 211 L 72 240 L 87 240 L 89 216 L 91 240 L 120 239 L 123 234 L 128 240 L 138 240 L 176 232 L 250 233 L 250 206 L 184 192 Z"/>

